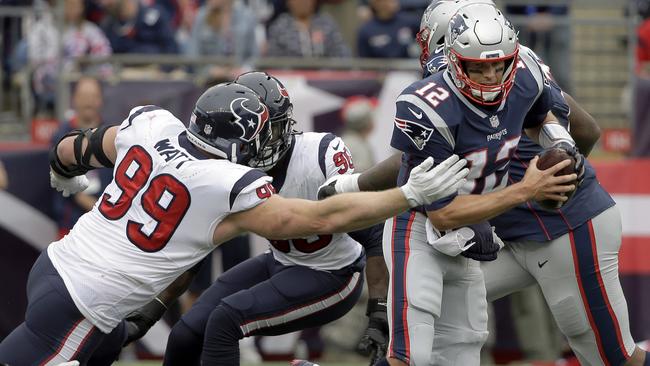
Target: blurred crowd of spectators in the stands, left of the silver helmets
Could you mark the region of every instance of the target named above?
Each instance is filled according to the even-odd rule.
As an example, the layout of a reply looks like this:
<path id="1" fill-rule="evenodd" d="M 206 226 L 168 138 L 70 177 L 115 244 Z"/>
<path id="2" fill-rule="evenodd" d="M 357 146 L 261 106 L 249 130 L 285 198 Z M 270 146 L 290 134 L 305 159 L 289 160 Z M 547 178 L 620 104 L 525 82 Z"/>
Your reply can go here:
<path id="1" fill-rule="evenodd" d="M 0 1 L 5 3 L 21 1 Z M 31 16 L 14 18 L 22 23 L 18 27 L 4 25 L 20 34 L 3 33 L 9 56 L 3 68 L 8 75 L 32 68 L 39 111 L 53 108 L 61 67 L 70 71 L 81 56 L 232 57 L 233 67 L 191 70 L 214 80 L 230 79 L 233 68 L 246 70 L 264 56 L 415 58 L 419 17 L 428 5 L 426 0 L 64 0 L 58 21 L 57 2 L 28 3 Z M 342 30 L 346 24 L 354 29 Z M 356 42 L 344 40 L 354 32 Z M 109 64 L 80 71 L 101 77 L 112 72 Z"/>

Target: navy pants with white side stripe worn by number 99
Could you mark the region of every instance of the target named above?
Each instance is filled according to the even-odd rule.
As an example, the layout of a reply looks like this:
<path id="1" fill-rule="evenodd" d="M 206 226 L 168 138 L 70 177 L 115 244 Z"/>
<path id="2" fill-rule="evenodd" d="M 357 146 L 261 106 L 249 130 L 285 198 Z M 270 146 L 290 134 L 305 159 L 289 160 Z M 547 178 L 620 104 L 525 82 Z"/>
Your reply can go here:
<path id="1" fill-rule="evenodd" d="M 0 343 L 0 363 L 20 366 L 57 365 L 70 360 L 89 363 L 106 334 L 81 315 L 46 252 L 38 257 L 29 273 L 27 301 L 25 321 Z M 118 327 L 111 335 L 123 337 L 125 329 Z M 91 364 L 110 364 L 106 362 L 97 360 Z"/>

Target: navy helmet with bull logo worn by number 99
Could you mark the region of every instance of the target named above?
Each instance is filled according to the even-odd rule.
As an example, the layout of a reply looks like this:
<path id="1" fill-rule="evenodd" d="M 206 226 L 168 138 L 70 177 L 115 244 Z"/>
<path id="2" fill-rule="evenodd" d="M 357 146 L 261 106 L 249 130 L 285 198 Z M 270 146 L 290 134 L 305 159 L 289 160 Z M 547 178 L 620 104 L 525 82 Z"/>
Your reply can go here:
<path id="1" fill-rule="evenodd" d="M 253 90 L 218 84 L 196 101 L 187 138 L 201 150 L 248 164 L 271 139 L 269 109 Z"/>

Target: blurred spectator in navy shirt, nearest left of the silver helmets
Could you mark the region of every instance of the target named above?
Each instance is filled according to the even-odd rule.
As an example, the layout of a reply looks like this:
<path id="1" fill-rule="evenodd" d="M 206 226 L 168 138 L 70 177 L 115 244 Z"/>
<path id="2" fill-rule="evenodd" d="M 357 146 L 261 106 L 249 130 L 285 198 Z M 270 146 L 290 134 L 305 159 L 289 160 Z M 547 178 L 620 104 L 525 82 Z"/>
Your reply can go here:
<path id="1" fill-rule="evenodd" d="M 420 50 L 415 35 L 420 19 L 400 12 L 398 0 L 370 0 L 372 18 L 357 35 L 359 57 L 412 58 Z"/>

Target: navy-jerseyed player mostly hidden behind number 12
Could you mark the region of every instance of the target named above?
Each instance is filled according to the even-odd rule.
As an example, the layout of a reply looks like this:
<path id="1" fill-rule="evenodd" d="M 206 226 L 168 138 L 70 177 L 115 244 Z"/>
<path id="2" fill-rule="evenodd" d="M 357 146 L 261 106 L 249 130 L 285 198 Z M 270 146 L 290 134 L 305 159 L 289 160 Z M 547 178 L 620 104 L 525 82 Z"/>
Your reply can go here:
<path id="1" fill-rule="evenodd" d="M 442 44 L 440 27 L 448 24 L 462 6 L 462 1 L 440 1 L 425 12 L 420 33 L 426 35 L 420 37 L 423 51 L 427 52 L 422 58 L 426 61 L 422 63 L 425 76 L 447 66 L 440 51 L 428 55 L 428 50 Z M 595 120 L 560 90 L 548 67 L 530 49 L 520 45 L 520 52 L 540 62 L 551 86 L 553 113 L 562 125 L 571 126 L 576 146 L 588 155 L 599 138 Z M 527 165 L 542 151 L 540 145 L 522 135 L 516 158 L 508 168 L 510 183 L 520 181 Z M 338 191 L 391 187 L 397 177 L 398 158 L 393 156 L 361 176 L 351 176 L 347 182 L 334 182 L 328 190 L 332 193 L 334 187 Z M 482 263 L 487 297 L 496 300 L 537 282 L 582 364 L 643 365 L 650 357 L 634 345 L 617 276 L 620 215 L 609 194 L 598 184 L 591 165 L 585 161 L 584 166 L 583 183 L 561 208 L 543 210 L 531 201 L 490 220 L 508 245 L 497 260 Z M 595 236 L 585 235 L 591 230 Z M 544 268 L 551 263 L 553 267 Z M 604 284 L 603 291 L 589 292 L 595 288 L 589 287 L 591 283 Z"/>

